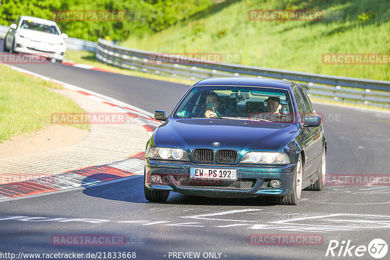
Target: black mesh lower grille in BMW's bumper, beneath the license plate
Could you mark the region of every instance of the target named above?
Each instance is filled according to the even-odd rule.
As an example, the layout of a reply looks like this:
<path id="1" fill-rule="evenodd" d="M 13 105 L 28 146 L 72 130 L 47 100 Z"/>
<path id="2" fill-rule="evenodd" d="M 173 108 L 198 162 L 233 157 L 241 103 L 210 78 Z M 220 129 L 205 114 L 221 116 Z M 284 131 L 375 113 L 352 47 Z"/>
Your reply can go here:
<path id="1" fill-rule="evenodd" d="M 249 190 L 253 188 L 256 180 L 254 179 L 238 179 L 237 181 L 222 181 L 222 180 L 199 180 L 191 179 L 188 176 L 179 176 L 176 179 L 178 186 L 184 187 L 208 187 L 219 189 L 237 189 Z"/>

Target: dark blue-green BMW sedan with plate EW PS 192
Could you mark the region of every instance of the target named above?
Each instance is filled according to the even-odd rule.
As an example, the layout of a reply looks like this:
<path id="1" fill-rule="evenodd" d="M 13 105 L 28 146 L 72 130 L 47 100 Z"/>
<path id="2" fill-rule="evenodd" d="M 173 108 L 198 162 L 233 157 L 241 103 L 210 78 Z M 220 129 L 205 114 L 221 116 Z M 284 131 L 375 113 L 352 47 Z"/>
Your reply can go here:
<path id="1" fill-rule="evenodd" d="M 212 78 L 195 83 L 146 146 L 147 200 L 170 191 L 296 205 L 324 188 L 327 142 L 321 118 L 291 81 Z"/>

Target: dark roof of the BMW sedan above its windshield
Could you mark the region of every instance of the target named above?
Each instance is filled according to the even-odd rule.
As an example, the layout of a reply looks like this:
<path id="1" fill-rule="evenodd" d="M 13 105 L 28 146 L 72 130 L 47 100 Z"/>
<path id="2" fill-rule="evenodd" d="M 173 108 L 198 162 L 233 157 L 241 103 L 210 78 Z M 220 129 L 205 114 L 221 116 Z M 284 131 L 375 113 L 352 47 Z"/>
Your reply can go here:
<path id="1" fill-rule="evenodd" d="M 255 77 L 221 77 L 207 78 L 197 82 L 194 86 L 248 86 L 248 87 L 270 87 L 276 89 L 287 90 L 292 85 L 292 81 L 271 79 L 271 78 L 255 78 Z"/>

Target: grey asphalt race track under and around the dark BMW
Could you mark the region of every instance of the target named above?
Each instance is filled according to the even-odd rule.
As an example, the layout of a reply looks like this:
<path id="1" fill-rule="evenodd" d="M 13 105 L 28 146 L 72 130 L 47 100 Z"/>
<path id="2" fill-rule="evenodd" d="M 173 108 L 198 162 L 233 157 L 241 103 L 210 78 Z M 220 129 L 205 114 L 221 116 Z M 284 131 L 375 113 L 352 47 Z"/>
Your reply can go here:
<path id="1" fill-rule="evenodd" d="M 2 46 L 2 42 L 0 42 Z M 146 111 L 171 111 L 188 86 L 62 64 L 17 65 L 101 93 Z M 328 139 L 327 174 L 390 174 L 390 114 L 314 104 Z M 368 246 L 390 243 L 389 186 L 326 186 L 303 191 L 298 206 L 269 198 L 209 199 L 171 193 L 147 202 L 142 177 L 0 202 L 0 253 L 136 252 L 137 259 L 339 259 L 331 240 Z M 320 245 L 250 245 L 250 234 L 320 235 Z M 123 235 L 125 246 L 58 246 L 57 235 Z M 170 253 L 171 252 L 171 253 Z M 220 253 L 220 256 L 219 254 Z M 344 254 L 342 251 L 341 255 Z M 355 259 L 356 257 L 344 259 Z M 182 257 L 182 255 L 180 255 Z M 390 252 L 384 259 L 389 259 Z M 101 255 L 103 257 L 103 255 Z M 25 257 L 26 258 L 26 257 Z M 5 259 L 1 257 L 0 259 Z M 32 259 L 32 258 L 29 258 Z M 35 258 L 36 259 L 36 258 Z M 59 257 L 57 259 L 60 259 Z M 189 259 L 189 258 L 187 258 Z M 194 258 L 193 258 L 194 259 Z M 365 252 L 359 259 L 373 259 Z"/>

